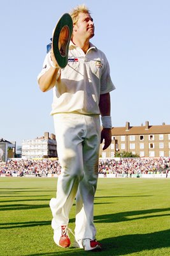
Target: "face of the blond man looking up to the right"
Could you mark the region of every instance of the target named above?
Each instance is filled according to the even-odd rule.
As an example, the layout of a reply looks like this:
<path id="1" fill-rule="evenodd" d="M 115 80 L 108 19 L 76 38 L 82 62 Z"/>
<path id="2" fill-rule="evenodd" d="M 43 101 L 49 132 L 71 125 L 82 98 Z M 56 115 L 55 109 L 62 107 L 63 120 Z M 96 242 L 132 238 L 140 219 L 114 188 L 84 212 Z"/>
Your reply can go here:
<path id="1" fill-rule="evenodd" d="M 94 22 L 89 13 L 79 13 L 78 22 L 74 25 L 74 29 L 76 29 L 76 36 L 78 37 L 90 39 L 94 36 Z"/>

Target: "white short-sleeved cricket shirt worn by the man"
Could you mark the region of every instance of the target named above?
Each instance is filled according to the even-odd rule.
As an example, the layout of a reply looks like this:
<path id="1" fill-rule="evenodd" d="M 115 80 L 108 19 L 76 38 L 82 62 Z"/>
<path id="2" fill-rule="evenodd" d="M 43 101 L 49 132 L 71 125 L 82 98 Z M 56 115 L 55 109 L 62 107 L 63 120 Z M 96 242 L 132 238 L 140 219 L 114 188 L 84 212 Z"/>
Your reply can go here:
<path id="1" fill-rule="evenodd" d="M 52 67 L 51 63 L 48 52 L 38 80 Z M 115 86 L 111 81 L 110 67 L 104 53 L 90 44 L 85 54 L 71 42 L 67 66 L 59 70 L 53 87 L 51 115 L 70 112 L 100 115 L 100 95 L 112 90 L 115 90 Z"/>

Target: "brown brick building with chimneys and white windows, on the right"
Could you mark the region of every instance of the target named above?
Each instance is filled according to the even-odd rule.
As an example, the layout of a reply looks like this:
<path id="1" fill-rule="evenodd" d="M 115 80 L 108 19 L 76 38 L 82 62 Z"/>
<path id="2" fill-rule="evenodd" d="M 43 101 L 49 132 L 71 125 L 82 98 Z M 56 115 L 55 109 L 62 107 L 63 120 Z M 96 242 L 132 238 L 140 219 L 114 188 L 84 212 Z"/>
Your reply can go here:
<path id="1" fill-rule="evenodd" d="M 126 122 L 125 127 L 113 127 L 112 141 L 109 148 L 100 148 L 100 157 L 115 157 L 116 152 L 132 152 L 140 157 L 170 156 L 170 125 L 131 126 Z"/>

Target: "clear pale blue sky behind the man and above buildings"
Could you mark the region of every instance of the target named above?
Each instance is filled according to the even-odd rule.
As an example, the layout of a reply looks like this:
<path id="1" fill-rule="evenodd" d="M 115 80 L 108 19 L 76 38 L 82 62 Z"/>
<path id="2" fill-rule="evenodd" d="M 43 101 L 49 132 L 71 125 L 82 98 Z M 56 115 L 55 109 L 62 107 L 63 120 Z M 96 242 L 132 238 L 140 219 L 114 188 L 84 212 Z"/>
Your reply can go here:
<path id="1" fill-rule="evenodd" d="M 0 138 L 34 139 L 54 133 L 52 90 L 37 76 L 52 30 L 63 13 L 86 4 L 95 24 L 92 44 L 106 54 L 113 127 L 170 125 L 169 0 L 0 0 Z"/>

